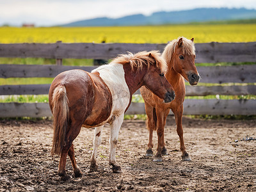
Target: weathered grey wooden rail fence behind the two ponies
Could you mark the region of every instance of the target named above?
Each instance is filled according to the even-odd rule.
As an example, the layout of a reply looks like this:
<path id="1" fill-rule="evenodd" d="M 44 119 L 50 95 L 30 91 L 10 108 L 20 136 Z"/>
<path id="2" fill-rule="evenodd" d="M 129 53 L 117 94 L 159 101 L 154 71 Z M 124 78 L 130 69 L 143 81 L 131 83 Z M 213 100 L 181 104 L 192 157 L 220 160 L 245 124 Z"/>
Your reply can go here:
<path id="1" fill-rule="evenodd" d="M 118 54 L 160 50 L 166 44 L 0 44 L 0 57 L 6 58 L 63 58 L 110 59 Z M 196 63 L 255 62 L 256 42 L 195 44 Z M 95 67 L 62 65 L 0 65 L 0 78 L 55 77 L 60 72 L 80 68 L 90 72 Z M 197 67 L 200 83 L 186 86 L 186 95 L 256 95 L 256 65 Z M 205 83 L 216 83 L 207 86 Z M 226 83 L 223 86 L 223 83 Z M 231 85 L 227 84 L 230 83 Z M 234 84 L 234 83 L 239 83 Z M 242 84 L 240 84 L 242 83 Z M 249 83 L 249 84 L 247 84 Z M 0 95 L 47 94 L 50 84 L 19 84 L 0 86 Z M 137 92 L 138 93 L 138 92 Z M 143 103 L 133 103 L 126 114 L 145 113 Z M 256 115 L 256 100 L 186 99 L 186 115 Z M 0 103 L 0 117 L 51 116 L 47 103 Z"/>

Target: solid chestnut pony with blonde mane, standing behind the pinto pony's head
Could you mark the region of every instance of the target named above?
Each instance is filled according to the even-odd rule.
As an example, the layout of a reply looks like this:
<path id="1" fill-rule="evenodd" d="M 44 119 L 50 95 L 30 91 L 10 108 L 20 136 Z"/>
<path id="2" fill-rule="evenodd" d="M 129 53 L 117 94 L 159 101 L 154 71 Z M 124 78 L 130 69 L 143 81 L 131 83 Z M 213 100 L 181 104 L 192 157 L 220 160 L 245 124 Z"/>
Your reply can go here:
<path id="1" fill-rule="evenodd" d="M 191 85 L 198 83 L 200 76 L 195 67 L 195 45 L 194 38 L 188 40 L 184 37 L 173 40 L 166 45 L 162 57 L 167 63 L 168 69 L 165 72 L 166 79 L 172 84 L 175 91 L 175 100 L 170 103 L 163 103 L 145 86 L 140 88 L 141 95 L 145 100 L 145 110 L 147 113 L 147 128 L 149 130 L 149 142 L 146 156 L 153 156 L 153 131 L 157 131 L 157 153 L 154 161 L 162 161 L 162 154 L 167 154 L 164 147 L 164 125 L 166 117 L 172 109 L 177 124 L 177 133 L 180 139 L 180 150 L 182 151 L 182 160 L 190 161 L 188 152 L 183 139 L 182 113 L 185 97 L 184 78 Z M 183 78 L 184 77 L 184 78 Z"/>

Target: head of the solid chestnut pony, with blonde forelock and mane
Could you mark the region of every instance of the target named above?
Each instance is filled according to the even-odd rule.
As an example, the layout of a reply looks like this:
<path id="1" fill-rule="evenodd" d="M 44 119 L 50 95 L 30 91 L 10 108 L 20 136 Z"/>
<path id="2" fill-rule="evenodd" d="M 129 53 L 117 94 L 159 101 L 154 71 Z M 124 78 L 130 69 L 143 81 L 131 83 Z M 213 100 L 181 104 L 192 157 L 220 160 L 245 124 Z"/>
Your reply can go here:
<path id="1" fill-rule="evenodd" d="M 195 67 L 195 45 L 194 38 L 188 40 L 180 37 L 166 45 L 163 58 L 168 67 L 181 74 L 191 85 L 196 85 L 200 76 Z"/>

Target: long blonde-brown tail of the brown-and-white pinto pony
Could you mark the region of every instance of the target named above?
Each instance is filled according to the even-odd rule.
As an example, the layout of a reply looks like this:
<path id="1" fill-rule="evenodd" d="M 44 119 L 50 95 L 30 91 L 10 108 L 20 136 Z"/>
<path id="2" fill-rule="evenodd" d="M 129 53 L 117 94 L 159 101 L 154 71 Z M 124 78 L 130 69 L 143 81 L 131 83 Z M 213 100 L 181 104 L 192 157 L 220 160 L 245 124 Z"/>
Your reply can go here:
<path id="1" fill-rule="evenodd" d="M 53 140 L 51 154 L 61 154 L 65 146 L 68 125 L 68 97 L 64 85 L 57 86 L 52 94 Z"/>

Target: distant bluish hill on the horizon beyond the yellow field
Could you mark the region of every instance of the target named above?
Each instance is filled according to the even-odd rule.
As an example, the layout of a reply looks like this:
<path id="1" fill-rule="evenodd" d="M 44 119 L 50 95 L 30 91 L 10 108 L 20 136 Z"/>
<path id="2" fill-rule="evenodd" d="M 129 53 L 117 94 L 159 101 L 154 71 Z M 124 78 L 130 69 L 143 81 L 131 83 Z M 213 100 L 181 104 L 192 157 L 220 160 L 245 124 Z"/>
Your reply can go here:
<path id="1" fill-rule="evenodd" d="M 129 15 L 118 19 L 101 17 L 70 22 L 62 26 L 145 26 L 243 19 L 256 19 L 256 10 L 245 8 L 196 8 L 179 12 L 156 12 L 149 16 L 142 14 Z"/>

